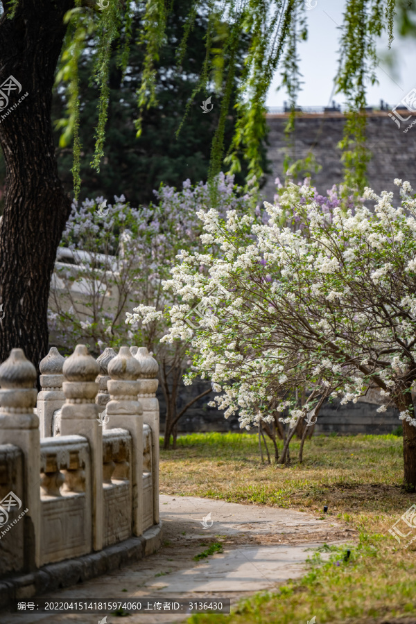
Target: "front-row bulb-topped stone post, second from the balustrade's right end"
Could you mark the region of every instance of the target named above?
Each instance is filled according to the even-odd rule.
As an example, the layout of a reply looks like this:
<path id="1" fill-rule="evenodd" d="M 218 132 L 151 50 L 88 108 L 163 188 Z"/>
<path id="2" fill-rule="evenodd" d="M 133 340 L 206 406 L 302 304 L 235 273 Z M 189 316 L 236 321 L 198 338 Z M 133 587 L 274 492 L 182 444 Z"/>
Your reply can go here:
<path id="1" fill-rule="evenodd" d="M 127 429 L 132 437 L 133 535 L 138 536 L 143 533 L 143 416 L 137 400 L 140 365 L 128 347 L 121 347 L 119 355 L 110 361 L 108 372 L 110 401 L 105 429 Z"/>

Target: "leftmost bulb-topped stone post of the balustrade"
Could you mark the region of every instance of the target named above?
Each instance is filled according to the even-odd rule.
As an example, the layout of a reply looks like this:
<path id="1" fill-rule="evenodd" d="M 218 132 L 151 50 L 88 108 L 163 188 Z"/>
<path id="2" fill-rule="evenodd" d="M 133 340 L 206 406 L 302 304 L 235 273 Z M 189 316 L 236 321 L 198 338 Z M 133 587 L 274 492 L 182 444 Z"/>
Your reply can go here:
<path id="1" fill-rule="evenodd" d="M 36 369 L 23 349 L 12 349 L 0 366 L 0 444 L 15 444 L 24 454 L 23 492 L 24 567 L 40 566 L 40 435 L 39 418 L 33 412 L 37 390 Z M 19 496 L 20 498 L 20 496 Z"/>

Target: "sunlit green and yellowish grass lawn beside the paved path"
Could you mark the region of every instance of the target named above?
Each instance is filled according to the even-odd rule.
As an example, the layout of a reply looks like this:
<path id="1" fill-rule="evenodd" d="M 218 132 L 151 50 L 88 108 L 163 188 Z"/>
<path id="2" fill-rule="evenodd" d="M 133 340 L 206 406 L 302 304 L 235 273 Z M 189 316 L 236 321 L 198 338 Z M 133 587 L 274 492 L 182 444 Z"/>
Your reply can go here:
<path id="1" fill-rule="evenodd" d="M 280 446 L 282 443 L 280 443 Z M 291 444 L 297 458 L 299 442 Z M 175 451 L 161 451 L 164 494 L 208 496 L 240 503 L 328 514 L 359 532 L 349 560 L 331 547 L 329 562 L 311 557 L 309 572 L 277 593 L 245 600 L 230 616 L 200 614 L 194 624 L 416 623 L 416 541 L 405 549 L 388 533 L 416 503 L 403 483 L 403 442 L 395 435 L 317 436 L 306 442 L 302 464 L 261 465 L 257 435 L 192 434 Z M 410 529 L 409 529 L 410 530 Z M 328 548 L 328 547 L 327 547 Z M 387 621 L 387 620 L 386 620 Z"/>

